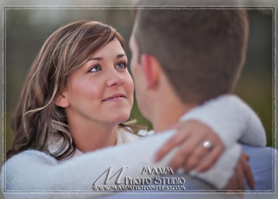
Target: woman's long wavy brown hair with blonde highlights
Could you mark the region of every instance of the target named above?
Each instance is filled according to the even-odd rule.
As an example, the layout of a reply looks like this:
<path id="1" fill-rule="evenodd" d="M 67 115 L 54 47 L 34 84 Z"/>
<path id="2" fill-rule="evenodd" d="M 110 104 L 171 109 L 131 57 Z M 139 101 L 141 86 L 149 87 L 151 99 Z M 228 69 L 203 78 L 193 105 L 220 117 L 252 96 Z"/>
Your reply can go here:
<path id="1" fill-rule="evenodd" d="M 55 97 L 63 90 L 67 77 L 114 38 L 124 48 L 123 37 L 111 26 L 80 21 L 59 28 L 46 40 L 30 68 L 11 121 L 15 139 L 7 159 L 28 149 L 45 151 L 51 133 L 60 134 L 64 140 L 51 156 L 60 160 L 74 154 L 76 147 L 65 110 L 55 105 Z"/>

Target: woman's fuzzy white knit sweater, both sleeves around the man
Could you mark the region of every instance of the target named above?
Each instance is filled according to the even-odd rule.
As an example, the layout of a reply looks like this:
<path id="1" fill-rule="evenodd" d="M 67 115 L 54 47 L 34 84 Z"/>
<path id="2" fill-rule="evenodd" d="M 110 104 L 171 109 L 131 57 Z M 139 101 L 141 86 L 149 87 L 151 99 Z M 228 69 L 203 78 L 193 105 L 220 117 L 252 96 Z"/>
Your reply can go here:
<path id="1" fill-rule="evenodd" d="M 209 171 L 200 174 L 190 172 L 190 175 L 199 177 L 218 189 L 223 188 L 232 175 L 241 152 L 237 141 L 259 147 L 266 144 L 260 120 L 255 112 L 236 96 L 225 95 L 213 99 L 186 113 L 181 120 L 192 118 L 209 125 L 226 146 L 223 155 Z M 128 166 L 124 172 L 126 177 L 146 177 L 147 174 L 142 175 L 144 166 L 167 167 L 178 148 L 158 163 L 153 162 L 153 157 L 174 133 L 172 130 L 140 138 L 119 129 L 117 146 L 85 154 L 76 150 L 73 157 L 63 161 L 57 161 L 43 152 L 24 151 L 10 158 L 2 167 L 1 190 L 7 199 L 38 198 L 39 193 L 39 198 L 78 198 L 79 195 L 74 193 L 85 193 L 82 198 L 99 197 L 100 193 L 93 191 L 92 184 L 111 166 L 114 166 L 115 173 Z M 48 147 L 50 152 L 59 146 L 59 139 L 55 136 L 51 138 Z"/>

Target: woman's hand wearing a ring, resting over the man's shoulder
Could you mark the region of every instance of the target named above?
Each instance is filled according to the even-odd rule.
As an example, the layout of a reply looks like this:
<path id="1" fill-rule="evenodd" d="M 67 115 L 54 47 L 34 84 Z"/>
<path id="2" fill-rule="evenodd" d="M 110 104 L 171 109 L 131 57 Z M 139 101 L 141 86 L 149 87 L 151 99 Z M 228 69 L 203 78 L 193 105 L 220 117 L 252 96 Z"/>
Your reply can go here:
<path id="1" fill-rule="evenodd" d="M 173 171 L 183 167 L 185 171 L 195 169 L 202 172 L 211 167 L 225 150 L 225 146 L 216 133 L 207 125 L 198 120 L 180 122 L 171 129 L 178 132 L 170 138 L 156 154 L 159 161 L 173 148 L 180 146 L 179 151 L 170 161 Z M 204 142 L 209 142 L 209 147 L 204 147 Z"/>

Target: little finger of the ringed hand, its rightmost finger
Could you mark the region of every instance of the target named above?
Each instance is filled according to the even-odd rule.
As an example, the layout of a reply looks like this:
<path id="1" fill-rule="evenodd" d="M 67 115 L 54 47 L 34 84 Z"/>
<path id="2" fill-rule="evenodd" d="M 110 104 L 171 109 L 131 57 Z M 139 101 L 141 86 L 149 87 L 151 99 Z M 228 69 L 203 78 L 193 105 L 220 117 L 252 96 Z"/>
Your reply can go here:
<path id="1" fill-rule="evenodd" d="M 209 169 L 209 167 L 211 167 L 216 162 L 216 160 L 222 153 L 223 153 L 222 147 L 215 146 L 209 152 L 208 156 L 205 157 L 205 159 L 202 162 L 200 162 L 200 164 L 197 166 L 195 171 L 196 172 L 206 171 L 207 169 Z"/>

